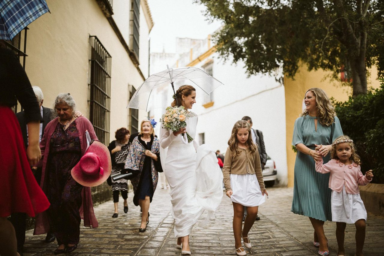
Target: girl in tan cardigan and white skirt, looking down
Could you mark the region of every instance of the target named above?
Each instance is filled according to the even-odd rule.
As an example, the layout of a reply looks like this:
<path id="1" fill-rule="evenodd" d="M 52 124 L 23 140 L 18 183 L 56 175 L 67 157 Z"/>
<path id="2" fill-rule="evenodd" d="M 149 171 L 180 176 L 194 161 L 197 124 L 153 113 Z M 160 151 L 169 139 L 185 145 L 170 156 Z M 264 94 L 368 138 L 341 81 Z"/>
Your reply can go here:
<path id="1" fill-rule="evenodd" d="M 257 146 L 250 136 L 250 126 L 247 121 L 237 121 L 232 128 L 229 147 L 225 153 L 223 176 L 225 193 L 233 204 L 233 235 L 237 255 L 247 255 L 241 245 L 241 238 L 246 248 L 251 248 L 248 232 L 255 223 L 258 206 L 265 202 L 266 194 L 260 156 Z M 247 206 L 247 218 L 242 220 L 244 206 Z"/>

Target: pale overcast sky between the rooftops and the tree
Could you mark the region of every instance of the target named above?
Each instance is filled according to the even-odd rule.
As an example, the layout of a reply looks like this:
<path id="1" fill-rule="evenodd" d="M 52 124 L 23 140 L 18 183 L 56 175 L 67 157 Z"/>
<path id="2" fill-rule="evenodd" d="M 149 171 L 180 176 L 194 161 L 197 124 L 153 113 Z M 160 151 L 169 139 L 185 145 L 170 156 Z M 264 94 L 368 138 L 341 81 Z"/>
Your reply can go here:
<path id="1" fill-rule="evenodd" d="M 151 52 L 175 52 L 175 38 L 204 39 L 220 27 L 220 22 L 209 23 L 203 5 L 193 0 L 148 0 L 155 23 L 149 37 Z"/>

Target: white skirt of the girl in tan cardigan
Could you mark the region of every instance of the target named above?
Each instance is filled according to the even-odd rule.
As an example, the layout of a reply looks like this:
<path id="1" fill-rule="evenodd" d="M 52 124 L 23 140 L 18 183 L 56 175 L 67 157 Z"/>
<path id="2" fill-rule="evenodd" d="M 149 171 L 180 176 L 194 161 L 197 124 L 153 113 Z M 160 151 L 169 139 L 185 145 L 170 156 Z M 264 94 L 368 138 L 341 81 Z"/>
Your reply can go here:
<path id="1" fill-rule="evenodd" d="M 232 202 L 243 206 L 259 206 L 265 202 L 259 182 L 255 174 L 230 174 L 232 188 Z"/>

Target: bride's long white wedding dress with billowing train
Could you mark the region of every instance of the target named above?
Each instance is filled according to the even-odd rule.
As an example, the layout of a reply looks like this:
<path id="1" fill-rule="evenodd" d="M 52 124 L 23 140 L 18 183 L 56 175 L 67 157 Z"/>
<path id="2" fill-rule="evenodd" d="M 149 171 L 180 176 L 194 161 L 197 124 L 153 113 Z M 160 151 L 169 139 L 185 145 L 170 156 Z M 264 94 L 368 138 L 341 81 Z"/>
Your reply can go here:
<path id="1" fill-rule="evenodd" d="M 197 115 L 189 112 L 189 116 L 186 130 L 195 138 Z M 164 128 L 160 133 L 160 158 L 170 186 L 175 237 L 187 236 L 204 210 L 208 216 L 199 226 L 207 224 L 219 206 L 223 196 L 222 171 L 207 145 L 199 147 L 195 140 L 185 143 L 182 136 L 174 136 Z"/>

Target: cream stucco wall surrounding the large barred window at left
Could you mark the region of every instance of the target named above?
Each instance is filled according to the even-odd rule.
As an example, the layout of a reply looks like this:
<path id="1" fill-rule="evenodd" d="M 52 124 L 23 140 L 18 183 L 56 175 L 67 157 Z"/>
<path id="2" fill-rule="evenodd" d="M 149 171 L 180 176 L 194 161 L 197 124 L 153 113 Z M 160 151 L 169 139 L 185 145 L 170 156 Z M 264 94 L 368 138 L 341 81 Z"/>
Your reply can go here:
<path id="1" fill-rule="evenodd" d="M 129 126 L 128 85 L 138 88 L 143 79 L 96 1 L 47 0 L 47 3 L 51 13 L 28 26 L 29 56 L 25 70 L 31 84 L 43 90 L 45 106 L 51 107 L 58 93 L 69 92 L 78 110 L 89 117 L 89 35 L 96 35 L 112 56 L 110 139 L 114 140 L 114 131 Z M 114 1 L 114 16 L 127 15 L 119 20 L 129 22 L 129 12 L 121 12 L 120 6 L 126 8 L 124 1 Z M 119 25 L 123 35 L 127 35 L 124 28 L 129 30 L 129 26 Z M 139 115 L 143 118 L 146 113 L 140 111 Z"/>

